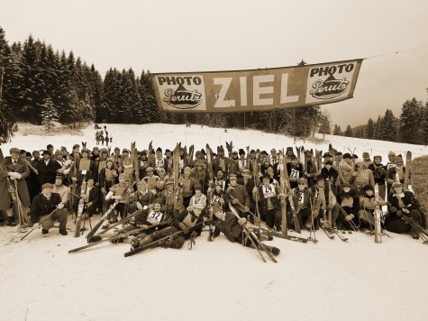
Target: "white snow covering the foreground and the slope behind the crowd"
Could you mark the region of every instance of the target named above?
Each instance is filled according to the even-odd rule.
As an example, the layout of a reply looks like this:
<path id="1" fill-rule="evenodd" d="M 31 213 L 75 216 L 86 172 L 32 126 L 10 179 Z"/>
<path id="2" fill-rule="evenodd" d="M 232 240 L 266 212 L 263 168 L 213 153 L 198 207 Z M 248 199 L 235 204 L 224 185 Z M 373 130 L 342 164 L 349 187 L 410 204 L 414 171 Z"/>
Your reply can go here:
<path id="1" fill-rule="evenodd" d="M 104 124 L 103 124 L 104 125 Z M 215 148 L 233 141 L 236 149 L 250 145 L 269 151 L 293 146 L 289 137 L 192 125 L 107 124 L 113 146 L 173 149 L 176 142 L 196 149 L 208 142 Z M 2 145 L 29 151 L 87 142 L 95 145 L 95 130 L 85 136 L 16 136 Z M 116 144 L 116 142 L 120 142 Z M 380 154 L 414 152 L 426 147 L 326 136 L 321 145 L 297 141 L 326 151 L 328 143 L 341 151 L 357 148 Z M 98 217 L 93 219 L 96 223 Z M 295 243 L 276 238 L 266 242 L 281 249 L 278 263 L 260 260 L 258 252 L 228 242 L 214 242 L 204 232 L 192 251 L 151 249 L 129 258 L 128 243 L 103 243 L 68 253 L 86 243 L 58 228 L 35 231 L 22 242 L 14 227 L 0 228 L 1 320 L 425 320 L 428 293 L 428 248 L 409 235 L 390 234 L 383 243 L 374 236 L 346 234 L 347 243 L 317 232 L 318 243 Z M 302 232 L 303 237 L 309 236 Z"/>

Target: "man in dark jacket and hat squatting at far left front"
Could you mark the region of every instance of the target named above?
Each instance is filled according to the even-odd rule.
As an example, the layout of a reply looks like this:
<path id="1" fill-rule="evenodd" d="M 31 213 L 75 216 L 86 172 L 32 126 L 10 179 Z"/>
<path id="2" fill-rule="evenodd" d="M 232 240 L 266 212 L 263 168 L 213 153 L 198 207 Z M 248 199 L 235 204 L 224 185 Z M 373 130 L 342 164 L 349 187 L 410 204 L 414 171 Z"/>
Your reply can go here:
<path id="1" fill-rule="evenodd" d="M 32 200 L 30 210 L 32 227 L 34 229 L 41 227 L 41 233 L 48 234 L 50 228 L 53 227 L 53 222 L 59 221 L 59 234 L 67 235 L 67 209 L 64 208 L 59 194 L 52 193 L 52 188 L 52 184 L 44 183 L 41 186 L 41 194 Z M 54 210 L 55 212 L 48 216 Z"/>

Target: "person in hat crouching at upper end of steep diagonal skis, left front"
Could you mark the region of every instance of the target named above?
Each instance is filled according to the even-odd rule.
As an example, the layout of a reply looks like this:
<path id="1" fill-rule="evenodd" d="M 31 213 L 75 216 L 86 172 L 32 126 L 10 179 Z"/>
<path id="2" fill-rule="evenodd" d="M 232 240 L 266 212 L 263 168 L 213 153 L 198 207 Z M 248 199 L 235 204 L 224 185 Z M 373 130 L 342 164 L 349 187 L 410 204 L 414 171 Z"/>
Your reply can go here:
<path id="1" fill-rule="evenodd" d="M 110 213 L 110 224 L 118 222 L 118 214 L 120 214 L 122 219 L 128 215 L 129 204 L 131 203 L 132 197 L 133 189 L 130 182 L 126 180 L 125 174 L 120 174 L 119 183 L 114 184 L 105 196 L 105 204 L 107 207 L 115 204 L 114 211 Z"/>

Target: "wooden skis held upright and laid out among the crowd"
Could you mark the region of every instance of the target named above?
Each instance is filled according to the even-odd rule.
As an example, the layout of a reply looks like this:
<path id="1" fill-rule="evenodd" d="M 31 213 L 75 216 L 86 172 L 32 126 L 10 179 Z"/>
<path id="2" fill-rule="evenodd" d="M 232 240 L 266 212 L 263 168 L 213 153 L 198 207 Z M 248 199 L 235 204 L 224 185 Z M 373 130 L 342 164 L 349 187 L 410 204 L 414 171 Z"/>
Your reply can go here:
<path id="1" fill-rule="evenodd" d="M 232 142 L 226 142 L 226 148 L 227 151 L 229 153 L 229 160 L 230 163 L 227 165 L 229 167 L 229 172 L 232 172 L 232 166 L 233 166 L 233 158 L 232 158 L 232 149 L 233 149 L 233 145 Z M 190 146 L 189 150 L 187 151 L 187 147 L 181 147 L 181 142 L 177 144 L 176 148 L 173 151 L 173 179 L 174 179 L 174 188 L 175 188 L 175 193 L 176 193 L 176 200 L 177 200 L 177 196 L 179 193 L 179 183 L 180 183 L 180 179 L 181 179 L 181 174 L 180 174 L 180 169 L 179 169 L 179 163 L 180 163 L 180 151 L 184 150 L 184 157 L 187 158 L 187 161 L 193 161 L 193 157 L 194 157 L 194 146 Z M 152 151 L 152 143 L 150 142 L 149 145 L 149 160 L 150 160 L 150 153 Z M 332 155 L 332 159 L 334 160 L 334 149 L 332 148 L 332 145 L 329 146 L 329 152 Z M 353 154 L 353 151 L 351 151 Z M 301 160 L 301 157 L 304 157 L 304 161 L 303 161 L 303 166 L 304 166 L 304 170 L 307 169 L 308 166 L 308 162 L 311 161 L 314 164 L 314 170 L 316 172 L 320 172 L 321 168 L 322 168 L 322 151 L 318 151 L 318 150 L 311 150 L 312 155 L 308 155 L 307 152 L 305 152 L 305 148 L 303 146 L 301 147 L 296 147 L 296 154 L 297 154 L 297 159 Z M 255 160 L 252 160 L 252 178 L 254 180 L 254 183 L 256 186 L 258 186 L 260 184 L 260 150 L 258 149 L 256 151 L 256 158 Z M 247 146 L 247 168 L 248 170 L 250 170 L 250 146 Z M 137 150 L 135 149 L 135 142 L 132 142 L 131 144 L 131 159 L 133 162 L 133 168 L 135 170 L 135 181 L 133 181 L 132 183 L 129 183 L 129 188 L 125 188 L 125 190 L 123 191 L 123 193 L 126 193 L 129 189 L 132 189 L 133 186 L 135 184 L 138 183 L 140 176 L 139 176 L 139 159 L 138 159 L 138 154 L 137 154 Z M 214 160 L 214 154 L 213 154 L 213 150 L 211 149 L 211 147 L 206 144 L 206 161 L 207 161 L 207 171 L 208 171 L 208 176 L 209 176 L 209 190 L 210 190 L 210 194 L 213 193 L 214 190 L 214 173 L 213 173 L 213 160 Z M 294 241 L 294 242 L 299 242 L 299 243 L 307 243 L 307 242 L 313 242 L 313 243 L 317 243 L 318 240 L 316 239 L 316 235 L 315 235 L 315 218 L 314 218 L 314 204 L 311 204 L 311 206 L 313 207 L 311 209 L 311 228 L 309 229 L 309 237 L 307 238 L 303 238 L 300 236 L 297 236 L 295 234 L 289 234 L 289 231 L 287 229 L 287 202 L 288 202 L 288 206 L 289 206 L 289 210 L 290 210 L 290 216 L 292 217 L 293 220 L 293 225 L 294 225 L 294 232 L 296 232 L 297 234 L 301 234 L 301 227 L 297 218 L 297 211 L 298 209 L 296 209 L 295 207 L 295 203 L 294 203 L 294 190 L 292 188 L 290 188 L 290 180 L 288 177 L 288 173 L 287 173 L 287 162 L 286 162 L 286 156 L 284 151 L 278 151 L 278 170 L 279 170 L 279 174 L 280 174 L 280 187 L 283 189 L 284 193 L 286 194 L 287 198 L 285 200 L 285 202 L 283 202 L 281 204 L 281 216 L 282 216 L 282 231 L 278 232 L 277 230 L 270 228 L 268 225 L 266 225 L 264 222 L 262 222 L 262 220 L 260 219 L 260 210 L 259 210 L 259 205 L 258 205 L 258 201 L 256 200 L 255 204 L 255 212 L 256 213 L 252 213 L 251 211 L 250 216 L 252 216 L 252 221 L 254 222 L 254 224 L 250 224 L 250 222 L 247 222 L 245 225 L 242 226 L 243 231 L 242 233 L 245 234 L 244 237 L 245 239 L 249 239 L 250 242 L 252 243 L 252 247 L 256 248 L 257 251 L 260 253 L 260 257 L 262 258 L 263 261 L 266 261 L 265 258 L 263 257 L 262 252 L 266 252 L 269 256 L 269 258 L 272 261 L 275 261 L 275 258 L 271 255 L 271 252 L 269 251 L 269 249 L 267 249 L 267 247 L 260 242 L 258 236 L 256 234 L 268 234 L 269 236 L 272 237 L 279 237 L 279 238 L 283 238 L 289 241 Z M 411 167 L 411 161 L 412 161 L 412 153 L 410 151 L 407 151 L 406 153 L 406 158 L 405 158 L 405 188 L 408 188 L 410 185 L 410 167 Z M 0 149 L 0 169 L 3 171 L 7 171 L 7 168 L 5 166 L 5 160 L 4 160 L 4 155 L 3 152 Z M 23 204 L 20 200 L 20 197 L 18 195 L 18 188 L 17 188 L 17 184 L 16 184 L 16 180 L 11 180 L 8 177 L 6 177 L 7 179 L 7 183 L 8 183 L 8 190 L 9 193 L 12 197 L 13 203 L 14 203 L 14 211 L 17 214 L 18 218 L 19 218 L 19 226 L 18 226 L 18 231 L 19 232 L 26 232 L 25 228 L 29 227 L 31 225 L 30 223 L 30 218 L 29 216 L 25 213 L 25 211 L 23 210 Z M 71 212 L 74 214 L 74 210 L 73 208 L 73 204 L 74 204 L 74 197 L 78 197 L 75 194 L 75 183 L 72 184 L 72 186 L 70 187 L 70 210 Z M 84 191 L 86 188 L 86 179 L 85 176 L 83 177 L 83 183 L 82 183 L 82 190 Z M 328 185 L 327 185 L 327 188 Z M 211 208 L 211 200 L 212 200 L 212 195 L 207 195 L 209 201 L 208 201 L 208 217 L 206 218 L 204 223 L 201 223 L 199 225 L 196 225 L 195 227 L 193 227 L 192 230 L 195 230 L 196 228 L 200 228 L 201 225 L 207 225 L 208 229 L 207 231 L 209 231 L 209 240 L 213 241 L 214 237 L 213 237 L 213 225 L 214 225 L 214 219 L 213 219 L 213 210 Z M 375 197 L 378 200 L 379 199 L 379 194 L 378 194 L 378 185 L 376 185 L 375 188 Z M 100 221 L 94 225 L 92 227 L 92 225 L 90 225 L 90 231 L 87 233 L 86 238 L 87 238 L 87 245 L 78 247 L 76 249 L 72 249 L 68 252 L 78 252 L 84 249 L 87 249 L 89 247 L 93 247 L 96 246 L 100 243 L 106 243 L 106 242 L 110 242 L 110 243 L 121 243 L 123 242 L 123 240 L 136 235 L 136 234 L 141 234 L 141 233 L 146 233 L 146 234 L 150 234 L 152 232 L 155 232 L 156 230 L 158 230 L 159 228 L 163 228 L 167 225 L 171 224 L 171 221 L 165 221 L 162 223 L 159 223 L 157 225 L 150 225 L 147 227 L 139 227 L 139 228 L 135 228 L 132 231 L 129 231 L 129 229 L 122 229 L 120 230 L 119 227 L 122 225 L 124 226 L 126 223 L 128 223 L 132 217 L 136 216 L 138 213 L 140 213 L 139 211 L 134 212 L 133 214 L 126 216 L 125 218 L 123 218 L 122 220 L 120 220 L 119 222 L 115 223 L 114 225 L 105 225 L 108 217 L 110 216 L 110 214 L 112 213 L 112 211 L 114 211 L 115 206 L 117 206 L 118 202 L 120 201 L 120 199 L 116 199 L 114 201 L 114 203 L 109 206 L 109 208 L 103 208 L 103 215 L 101 216 Z M 71 203 L 72 202 L 72 203 Z M 237 204 L 237 206 L 241 206 L 243 207 L 243 205 L 241 205 L 240 203 Z M 349 222 L 349 224 L 351 225 L 351 229 L 354 232 L 359 232 L 359 226 L 356 225 L 353 221 L 352 221 L 352 216 L 350 216 L 349 214 L 347 214 L 344 209 L 338 204 L 339 209 L 340 209 L 340 213 L 341 215 L 343 215 L 345 217 L 345 220 Z M 226 208 L 226 210 L 230 211 L 233 215 L 238 216 L 236 210 L 233 208 L 232 205 L 228 206 L 228 208 Z M 81 222 L 82 219 L 86 220 L 88 218 L 87 215 L 85 215 L 84 213 L 85 211 L 85 206 L 84 206 L 84 200 L 83 198 L 79 198 L 78 201 L 78 206 L 77 206 L 77 215 L 76 215 L 76 230 L 75 230 L 75 237 L 78 237 L 80 234 L 83 233 L 83 231 L 85 229 L 81 228 Z M 53 211 L 52 213 L 50 213 L 48 216 L 45 216 L 44 219 L 46 219 L 46 217 L 51 216 L 55 211 Z M 321 228 L 321 230 L 323 231 L 323 233 L 325 233 L 330 239 L 334 239 L 334 236 L 337 235 L 341 241 L 346 242 L 348 241 L 348 238 L 345 237 L 342 233 L 344 232 L 339 232 L 337 229 L 332 227 L 332 213 L 331 211 L 322 211 L 323 215 L 322 217 L 319 218 L 319 227 Z M 239 217 L 239 216 L 238 216 Z M 382 231 L 381 229 L 381 221 L 383 220 L 383 213 L 382 213 L 382 209 L 380 206 L 377 206 L 375 211 L 374 211 L 374 217 L 375 217 L 375 225 L 374 225 L 374 230 L 373 231 L 369 231 L 366 232 L 366 234 L 369 235 L 374 235 L 375 236 L 375 242 L 376 243 L 382 243 L 382 235 L 387 235 L 384 231 Z M 402 216 L 402 218 L 409 224 L 412 225 L 414 227 L 414 229 L 418 232 L 418 234 L 420 234 L 421 238 L 423 239 L 423 243 L 428 243 L 428 233 L 426 232 L 425 229 L 423 229 L 422 226 L 417 225 L 412 219 L 410 219 L 408 216 Z M 90 220 L 89 220 L 89 224 L 90 224 Z M 105 226 L 103 226 L 105 225 Z M 104 227 L 104 228 L 101 228 Z M 107 236 L 106 232 L 111 231 L 112 229 L 114 229 L 114 235 L 113 236 Z M 23 237 L 21 238 L 21 240 L 23 240 L 23 238 L 25 238 L 28 234 L 30 234 L 32 232 L 32 229 L 30 229 L 26 234 L 23 235 Z M 290 231 L 291 232 L 291 231 Z M 351 231 L 349 232 L 351 233 Z M 179 234 L 183 234 L 182 232 L 177 232 L 175 234 L 170 234 L 167 237 L 164 237 L 160 240 L 157 240 L 153 243 L 150 244 L 146 244 L 144 246 L 138 247 L 136 249 L 133 249 L 131 252 L 126 252 L 124 254 L 125 257 L 131 256 L 137 252 L 142 252 L 146 249 L 150 249 L 159 245 L 165 245 L 168 244 L 171 240 L 177 238 L 179 236 Z M 96 237 L 94 237 L 96 236 Z M 387 235 L 389 236 L 389 235 Z M 390 236 L 389 236 L 390 237 Z M 193 240 L 191 240 L 191 242 L 193 242 Z"/>

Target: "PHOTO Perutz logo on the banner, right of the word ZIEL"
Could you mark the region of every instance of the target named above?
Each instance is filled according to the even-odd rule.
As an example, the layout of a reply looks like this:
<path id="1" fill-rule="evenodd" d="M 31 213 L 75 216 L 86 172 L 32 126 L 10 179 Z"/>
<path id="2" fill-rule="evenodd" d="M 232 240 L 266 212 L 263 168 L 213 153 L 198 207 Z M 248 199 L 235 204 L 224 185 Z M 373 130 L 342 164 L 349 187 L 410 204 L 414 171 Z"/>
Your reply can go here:
<path id="1" fill-rule="evenodd" d="M 310 78 L 315 76 L 323 77 L 327 75 L 328 77 L 326 79 L 315 80 L 312 84 L 312 89 L 309 91 L 309 94 L 318 99 L 331 99 L 341 96 L 341 94 L 343 94 L 346 89 L 348 89 L 350 81 L 346 80 L 346 78 L 334 78 L 333 75 L 351 73 L 353 69 L 354 64 L 352 63 L 311 69 Z"/>

